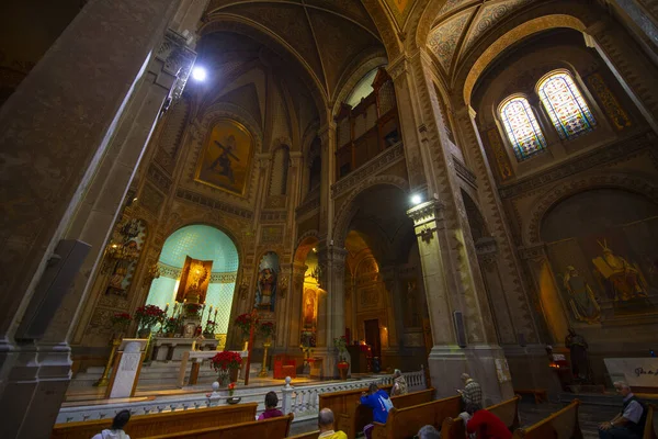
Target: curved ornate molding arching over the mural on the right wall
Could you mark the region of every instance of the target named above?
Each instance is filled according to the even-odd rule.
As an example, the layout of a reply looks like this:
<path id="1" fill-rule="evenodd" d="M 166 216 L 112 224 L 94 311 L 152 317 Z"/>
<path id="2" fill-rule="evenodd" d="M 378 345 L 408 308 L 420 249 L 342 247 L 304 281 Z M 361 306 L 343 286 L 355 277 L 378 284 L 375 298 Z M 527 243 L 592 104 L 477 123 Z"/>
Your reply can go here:
<path id="1" fill-rule="evenodd" d="M 533 246 L 542 243 L 542 219 L 551 209 L 579 192 L 594 189 L 622 189 L 647 196 L 658 204 L 658 184 L 648 179 L 623 172 L 597 172 L 594 175 L 574 178 L 546 189 L 531 207 L 530 219 L 523 227 L 523 243 Z"/>

